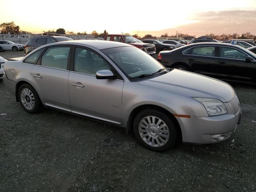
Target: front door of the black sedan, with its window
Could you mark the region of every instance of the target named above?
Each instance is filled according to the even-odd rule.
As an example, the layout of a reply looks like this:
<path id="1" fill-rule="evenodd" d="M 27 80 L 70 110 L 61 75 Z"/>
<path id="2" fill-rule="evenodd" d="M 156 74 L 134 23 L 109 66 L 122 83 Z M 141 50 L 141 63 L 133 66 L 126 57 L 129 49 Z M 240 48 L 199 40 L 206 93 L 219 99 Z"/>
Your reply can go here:
<path id="1" fill-rule="evenodd" d="M 220 77 L 226 80 L 256 82 L 256 61 L 247 62 L 249 55 L 234 47 L 220 46 L 218 69 Z"/>

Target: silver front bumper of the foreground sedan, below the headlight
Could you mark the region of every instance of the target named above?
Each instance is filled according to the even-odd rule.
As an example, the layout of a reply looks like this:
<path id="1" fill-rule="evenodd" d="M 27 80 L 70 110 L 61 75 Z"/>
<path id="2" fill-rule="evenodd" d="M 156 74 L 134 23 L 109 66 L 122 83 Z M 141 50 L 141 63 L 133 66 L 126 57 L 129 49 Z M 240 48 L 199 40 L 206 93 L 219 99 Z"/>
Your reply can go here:
<path id="1" fill-rule="evenodd" d="M 242 110 L 237 115 L 225 114 L 212 117 L 176 117 L 182 130 L 182 141 L 190 143 L 218 143 L 236 131 Z"/>

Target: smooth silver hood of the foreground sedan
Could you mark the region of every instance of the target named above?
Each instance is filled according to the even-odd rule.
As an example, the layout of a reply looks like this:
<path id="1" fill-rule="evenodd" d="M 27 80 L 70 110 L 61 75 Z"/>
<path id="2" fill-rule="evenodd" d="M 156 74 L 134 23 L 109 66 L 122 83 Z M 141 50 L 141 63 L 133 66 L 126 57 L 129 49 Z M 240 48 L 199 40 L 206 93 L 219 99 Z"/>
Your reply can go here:
<path id="1" fill-rule="evenodd" d="M 139 83 L 183 96 L 217 98 L 222 102 L 229 102 L 235 95 L 234 89 L 225 82 L 178 69 Z"/>

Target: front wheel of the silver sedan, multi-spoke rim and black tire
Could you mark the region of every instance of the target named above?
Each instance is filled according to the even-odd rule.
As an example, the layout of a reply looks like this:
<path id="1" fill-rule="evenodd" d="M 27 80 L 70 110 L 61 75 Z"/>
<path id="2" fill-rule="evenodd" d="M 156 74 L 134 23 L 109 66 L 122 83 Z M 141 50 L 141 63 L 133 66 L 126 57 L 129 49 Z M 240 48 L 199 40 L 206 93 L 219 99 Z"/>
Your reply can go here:
<path id="1" fill-rule="evenodd" d="M 177 124 L 160 110 L 146 109 L 139 112 L 133 128 L 138 142 L 152 151 L 169 150 L 178 142 Z"/>

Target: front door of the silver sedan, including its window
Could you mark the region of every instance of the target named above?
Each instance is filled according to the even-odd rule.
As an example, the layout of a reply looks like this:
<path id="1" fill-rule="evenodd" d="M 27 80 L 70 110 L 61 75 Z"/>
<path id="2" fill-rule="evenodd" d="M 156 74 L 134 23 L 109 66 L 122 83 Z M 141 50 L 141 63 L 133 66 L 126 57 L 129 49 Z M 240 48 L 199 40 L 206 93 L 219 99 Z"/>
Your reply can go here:
<path id="1" fill-rule="evenodd" d="M 98 53 L 76 47 L 68 78 L 72 112 L 120 124 L 124 81 L 96 79 L 96 72 L 104 69 L 113 70 Z"/>

